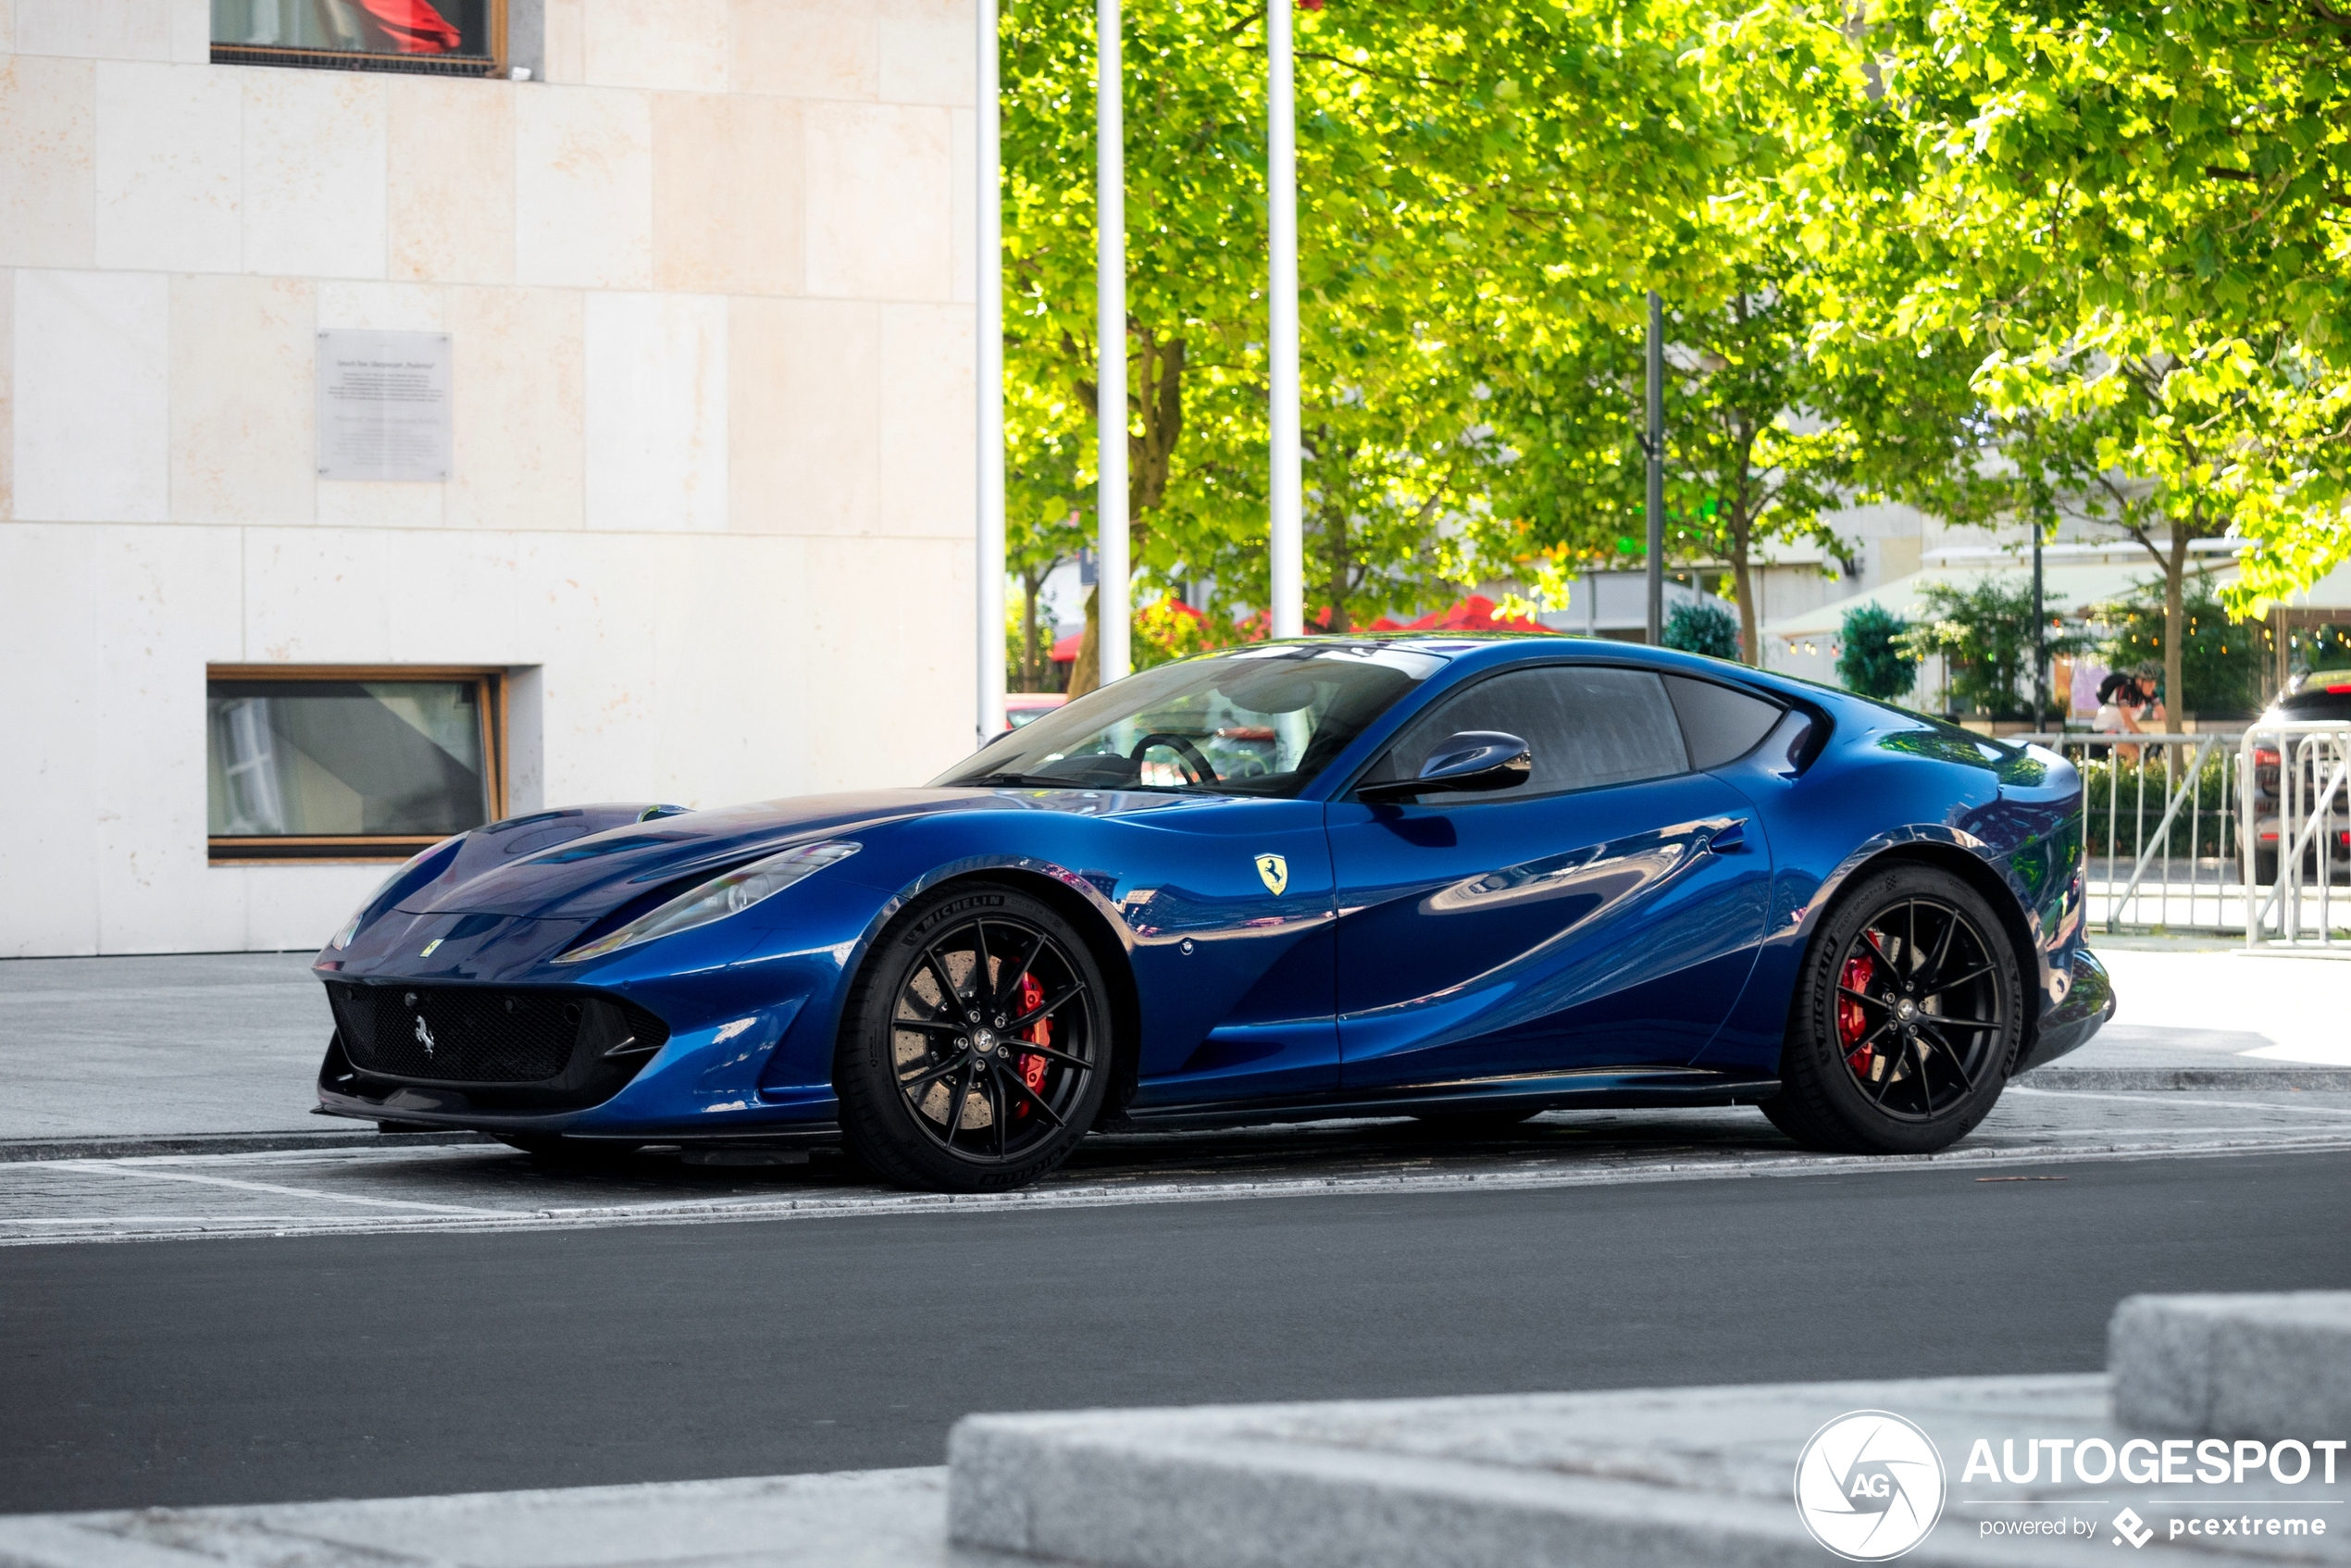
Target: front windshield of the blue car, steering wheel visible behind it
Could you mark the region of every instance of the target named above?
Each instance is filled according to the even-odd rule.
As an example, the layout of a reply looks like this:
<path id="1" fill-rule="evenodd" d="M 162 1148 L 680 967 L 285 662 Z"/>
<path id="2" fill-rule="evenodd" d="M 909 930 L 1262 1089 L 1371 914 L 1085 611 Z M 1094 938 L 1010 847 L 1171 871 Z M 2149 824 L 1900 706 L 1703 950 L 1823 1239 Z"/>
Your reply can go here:
<path id="1" fill-rule="evenodd" d="M 1444 658 L 1265 644 L 1112 682 L 997 736 L 933 785 L 1298 795 Z"/>

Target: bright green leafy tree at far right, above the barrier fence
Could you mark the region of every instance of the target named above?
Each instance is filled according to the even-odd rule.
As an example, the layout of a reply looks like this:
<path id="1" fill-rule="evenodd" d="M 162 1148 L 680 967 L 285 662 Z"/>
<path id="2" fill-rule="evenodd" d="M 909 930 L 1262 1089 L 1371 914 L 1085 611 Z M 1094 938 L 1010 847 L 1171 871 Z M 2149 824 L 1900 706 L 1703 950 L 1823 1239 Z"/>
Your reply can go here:
<path id="1" fill-rule="evenodd" d="M 1754 26 L 1806 21 L 1853 47 L 1834 92 L 1784 80 L 1824 125 L 1789 212 L 1846 289 L 1831 336 L 1970 348 L 2020 465 L 2064 456 L 2163 567 L 2177 691 L 2189 541 L 2250 541 L 2245 614 L 2351 552 L 2342 14 L 1890 0 Z"/>

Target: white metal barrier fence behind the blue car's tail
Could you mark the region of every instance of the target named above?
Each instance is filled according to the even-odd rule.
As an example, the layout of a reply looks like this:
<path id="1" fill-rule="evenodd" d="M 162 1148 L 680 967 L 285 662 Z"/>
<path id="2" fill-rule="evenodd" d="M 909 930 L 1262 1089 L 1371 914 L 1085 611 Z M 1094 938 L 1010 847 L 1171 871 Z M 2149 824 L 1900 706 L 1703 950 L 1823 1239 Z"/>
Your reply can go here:
<path id="1" fill-rule="evenodd" d="M 2351 940 L 2351 889 L 2332 896 L 2335 877 L 2351 872 L 2342 832 L 2351 827 L 2344 809 L 2351 724 L 2008 741 L 2043 745 L 2081 771 L 2083 917 L 2092 929 L 2229 931 L 2248 943 Z M 2278 853 L 2280 835 L 2302 856 Z"/>

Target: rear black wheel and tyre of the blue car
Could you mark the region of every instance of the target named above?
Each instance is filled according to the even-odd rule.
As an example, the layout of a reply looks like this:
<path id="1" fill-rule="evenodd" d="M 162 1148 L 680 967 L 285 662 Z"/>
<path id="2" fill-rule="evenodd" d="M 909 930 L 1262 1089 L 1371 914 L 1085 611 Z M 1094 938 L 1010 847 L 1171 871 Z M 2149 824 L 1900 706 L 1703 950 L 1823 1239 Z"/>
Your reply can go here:
<path id="1" fill-rule="evenodd" d="M 2015 947 L 1972 886 L 1916 863 L 1869 872 L 1813 940 L 1763 1112 L 1817 1150 L 1949 1147 L 1998 1100 L 2022 1013 Z"/>

